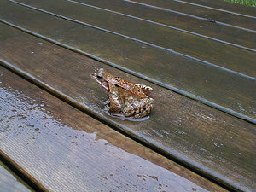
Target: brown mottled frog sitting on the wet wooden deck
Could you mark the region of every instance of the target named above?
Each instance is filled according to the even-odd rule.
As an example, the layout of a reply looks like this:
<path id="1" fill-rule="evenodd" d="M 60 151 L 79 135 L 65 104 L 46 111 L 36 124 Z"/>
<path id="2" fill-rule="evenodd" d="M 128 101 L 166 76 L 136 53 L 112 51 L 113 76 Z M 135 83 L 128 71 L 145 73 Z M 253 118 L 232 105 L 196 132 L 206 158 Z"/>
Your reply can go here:
<path id="1" fill-rule="evenodd" d="M 140 119 L 152 111 L 154 99 L 149 97 L 153 89 L 144 84 L 134 84 L 108 73 L 105 69 L 96 69 L 91 74 L 108 96 L 108 112 L 113 116 L 126 119 Z"/>

